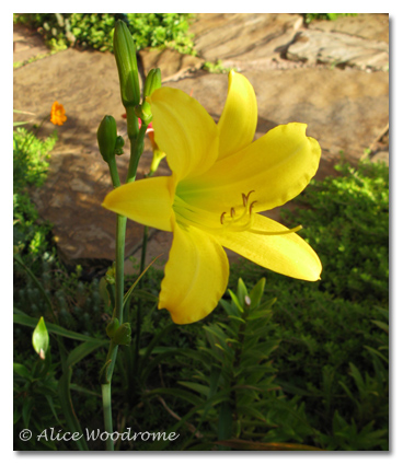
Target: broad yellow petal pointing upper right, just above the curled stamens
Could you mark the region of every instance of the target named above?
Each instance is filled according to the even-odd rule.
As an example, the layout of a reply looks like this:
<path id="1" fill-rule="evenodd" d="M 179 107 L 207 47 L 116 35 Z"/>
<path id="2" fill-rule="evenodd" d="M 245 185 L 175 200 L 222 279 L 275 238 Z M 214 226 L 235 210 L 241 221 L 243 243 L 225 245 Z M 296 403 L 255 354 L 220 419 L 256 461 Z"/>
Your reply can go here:
<path id="1" fill-rule="evenodd" d="M 321 148 L 306 136 L 307 125 L 277 126 L 207 173 L 179 188 L 186 201 L 217 214 L 251 195 L 254 211 L 270 210 L 298 196 L 318 171 Z"/>

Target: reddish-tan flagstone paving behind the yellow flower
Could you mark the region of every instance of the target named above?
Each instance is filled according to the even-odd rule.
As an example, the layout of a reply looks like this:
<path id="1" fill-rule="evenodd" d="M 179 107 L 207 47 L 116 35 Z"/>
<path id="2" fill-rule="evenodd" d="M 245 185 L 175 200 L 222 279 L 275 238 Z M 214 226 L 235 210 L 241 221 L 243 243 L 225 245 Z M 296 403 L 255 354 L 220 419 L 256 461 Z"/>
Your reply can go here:
<path id="1" fill-rule="evenodd" d="M 200 14 L 192 26 L 197 57 L 172 50 L 142 50 L 146 71 L 159 66 L 164 84 L 192 93 L 218 120 L 227 95 L 227 74 L 202 69 L 205 61 L 242 71 L 252 82 L 258 104 L 256 137 L 278 124 L 308 124 L 307 133 L 322 147 L 316 178 L 334 175 L 345 156 L 353 163 L 367 155 L 389 162 L 389 19 L 361 14 L 306 27 L 299 14 Z M 325 50 L 325 53 L 323 51 Z M 359 53 L 357 53 L 359 50 Z M 14 27 L 14 62 L 44 55 L 37 35 Z M 111 190 L 107 165 L 96 146 L 96 129 L 105 114 L 125 136 L 125 109 L 112 54 L 68 49 L 14 70 L 14 108 L 35 113 L 39 124 L 55 100 L 68 120 L 58 127 L 45 186 L 32 191 L 43 219 L 54 224 L 55 240 L 68 265 L 89 272 L 114 257 L 115 216 L 101 202 Z M 46 120 L 39 136 L 55 127 Z M 368 153 L 369 152 L 369 153 Z M 151 146 L 139 165 L 148 172 Z M 128 155 L 118 158 L 125 178 Z M 158 174 L 169 174 L 162 162 Z M 268 213 L 278 219 L 279 209 Z M 127 255 L 139 258 L 142 226 L 129 221 Z M 148 260 L 166 260 L 170 233 L 151 231 Z M 235 258 L 230 254 L 230 258 Z M 128 263 L 127 270 L 131 270 Z"/>

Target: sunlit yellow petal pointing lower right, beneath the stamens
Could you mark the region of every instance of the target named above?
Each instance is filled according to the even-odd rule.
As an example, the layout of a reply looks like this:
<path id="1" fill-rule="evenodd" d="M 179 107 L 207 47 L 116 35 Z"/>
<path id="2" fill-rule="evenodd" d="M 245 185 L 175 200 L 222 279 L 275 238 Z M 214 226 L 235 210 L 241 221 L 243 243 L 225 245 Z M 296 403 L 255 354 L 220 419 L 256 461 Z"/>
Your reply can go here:
<path id="1" fill-rule="evenodd" d="M 287 228 L 262 214 L 254 214 L 253 230 L 284 232 Z M 316 253 L 296 233 L 264 235 L 251 231 L 222 232 L 217 240 L 222 246 L 280 275 L 307 281 L 320 279 L 322 264 Z"/>

